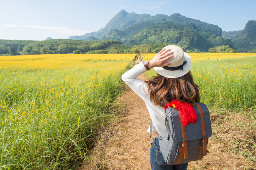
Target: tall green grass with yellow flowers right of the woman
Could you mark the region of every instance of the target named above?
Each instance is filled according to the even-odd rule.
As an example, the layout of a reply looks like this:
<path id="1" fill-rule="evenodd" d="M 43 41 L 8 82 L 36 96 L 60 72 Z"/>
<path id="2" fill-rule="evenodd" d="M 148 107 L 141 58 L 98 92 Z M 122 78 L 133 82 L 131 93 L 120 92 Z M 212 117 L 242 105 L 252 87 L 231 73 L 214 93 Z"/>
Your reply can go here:
<path id="1" fill-rule="evenodd" d="M 221 55 L 220 55 L 221 56 Z M 193 60 L 191 73 L 208 106 L 247 110 L 256 105 L 256 56 Z M 156 75 L 154 69 L 146 72 Z"/>

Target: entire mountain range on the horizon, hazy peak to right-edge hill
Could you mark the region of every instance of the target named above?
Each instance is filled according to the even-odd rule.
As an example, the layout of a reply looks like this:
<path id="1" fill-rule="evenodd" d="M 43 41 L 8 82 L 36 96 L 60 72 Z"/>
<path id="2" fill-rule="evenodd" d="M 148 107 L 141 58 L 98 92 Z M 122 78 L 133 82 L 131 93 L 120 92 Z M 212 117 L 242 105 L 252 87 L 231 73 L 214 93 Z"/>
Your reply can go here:
<path id="1" fill-rule="evenodd" d="M 104 28 L 74 40 L 118 40 L 124 45 L 176 44 L 186 50 L 208 51 L 211 47 L 229 45 L 242 51 L 256 49 L 256 21 L 251 20 L 244 30 L 225 32 L 217 25 L 187 18 L 174 13 L 170 16 L 157 14 L 127 13 L 121 10 Z M 223 34 L 223 35 L 222 35 Z"/>

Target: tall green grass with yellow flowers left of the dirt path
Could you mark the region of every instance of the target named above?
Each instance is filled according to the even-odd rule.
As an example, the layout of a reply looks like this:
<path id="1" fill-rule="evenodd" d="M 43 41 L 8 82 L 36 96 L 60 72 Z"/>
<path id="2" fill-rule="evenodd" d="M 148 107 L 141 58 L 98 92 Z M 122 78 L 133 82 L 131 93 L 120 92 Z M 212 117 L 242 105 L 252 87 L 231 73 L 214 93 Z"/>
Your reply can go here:
<path id="1" fill-rule="evenodd" d="M 67 169 L 84 159 L 111 116 L 128 65 L 85 63 L 0 69 L 0 169 Z"/>

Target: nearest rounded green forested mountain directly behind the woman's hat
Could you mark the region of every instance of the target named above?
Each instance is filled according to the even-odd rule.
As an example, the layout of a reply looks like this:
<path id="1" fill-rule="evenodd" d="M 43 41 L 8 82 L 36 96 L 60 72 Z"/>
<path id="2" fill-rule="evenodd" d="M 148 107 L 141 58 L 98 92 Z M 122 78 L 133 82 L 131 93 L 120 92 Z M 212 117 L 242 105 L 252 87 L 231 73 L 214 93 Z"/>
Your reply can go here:
<path id="1" fill-rule="evenodd" d="M 230 45 L 230 40 L 225 40 L 208 30 L 200 30 L 194 24 L 174 24 L 168 23 L 164 25 L 154 25 L 141 30 L 137 34 L 128 39 L 125 44 L 136 45 L 141 44 L 176 44 L 186 50 L 192 51 L 208 51 L 210 47 Z"/>

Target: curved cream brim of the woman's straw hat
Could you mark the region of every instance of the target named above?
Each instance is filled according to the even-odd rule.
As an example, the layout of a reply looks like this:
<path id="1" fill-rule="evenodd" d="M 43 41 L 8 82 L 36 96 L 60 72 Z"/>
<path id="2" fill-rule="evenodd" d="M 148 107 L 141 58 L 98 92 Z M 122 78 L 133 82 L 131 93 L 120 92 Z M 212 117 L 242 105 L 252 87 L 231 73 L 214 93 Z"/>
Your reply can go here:
<path id="1" fill-rule="evenodd" d="M 154 70 L 159 75 L 167 78 L 182 77 L 183 75 L 187 74 L 192 67 L 192 58 L 186 52 L 184 52 L 184 60 L 187 61 L 187 63 L 183 66 L 183 70 L 170 71 L 165 70 L 163 67 L 154 67 Z"/>

